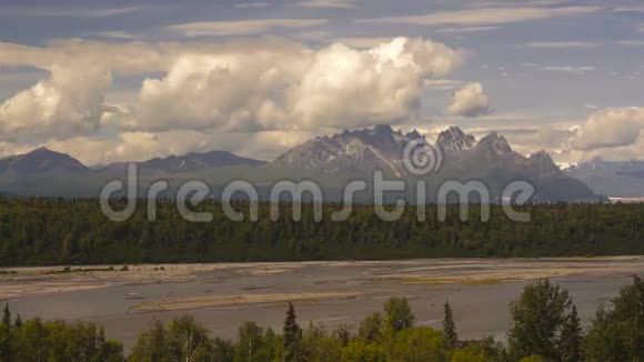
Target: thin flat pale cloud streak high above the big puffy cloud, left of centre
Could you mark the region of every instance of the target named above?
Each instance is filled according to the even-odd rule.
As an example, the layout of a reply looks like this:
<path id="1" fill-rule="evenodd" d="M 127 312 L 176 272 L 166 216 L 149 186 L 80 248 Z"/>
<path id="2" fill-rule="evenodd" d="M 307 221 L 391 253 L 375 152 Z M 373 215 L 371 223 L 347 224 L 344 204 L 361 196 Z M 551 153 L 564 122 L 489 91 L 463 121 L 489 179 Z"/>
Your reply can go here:
<path id="1" fill-rule="evenodd" d="M 168 27 L 185 37 L 201 36 L 248 36 L 263 33 L 273 29 L 300 29 L 323 26 L 325 19 L 255 19 L 238 21 L 203 21 Z"/>

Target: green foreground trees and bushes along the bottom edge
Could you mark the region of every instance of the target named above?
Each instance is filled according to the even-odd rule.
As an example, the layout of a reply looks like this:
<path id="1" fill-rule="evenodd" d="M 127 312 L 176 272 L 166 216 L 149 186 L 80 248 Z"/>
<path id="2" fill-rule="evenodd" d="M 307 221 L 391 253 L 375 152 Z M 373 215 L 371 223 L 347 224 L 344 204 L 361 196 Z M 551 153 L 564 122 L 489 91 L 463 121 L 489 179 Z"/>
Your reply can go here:
<path id="1" fill-rule="evenodd" d="M 130 353 L 105 339 L 92 323 L 22 321 L 4 308 L 0 323 L 0 361 L 52 362 L 621 362 L 644 360 L 644 281 L 635 276 L 611 308 L 601 305 L 584 332 L 568 292 L 549 280 L 525 286 L 510 306 L 506 343 L 493 338 L 459 338 L 454 311 L 444 304 L 442 330 L 415 324 L 406 298 L 391 298 L 383 312 L 354 329 L 298 324 L 289 303 L 281 333 L 254 322 L 239 328 L 235 341 L 211 338 L 191 316 L 167 325 L 157 321 L 141 331 Z"/>

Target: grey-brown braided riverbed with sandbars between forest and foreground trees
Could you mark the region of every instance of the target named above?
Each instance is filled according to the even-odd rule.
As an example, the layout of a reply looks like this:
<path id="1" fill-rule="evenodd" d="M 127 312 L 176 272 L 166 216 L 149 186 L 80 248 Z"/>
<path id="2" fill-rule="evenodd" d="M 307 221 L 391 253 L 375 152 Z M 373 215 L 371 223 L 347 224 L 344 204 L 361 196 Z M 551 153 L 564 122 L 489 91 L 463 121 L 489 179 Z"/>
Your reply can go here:
<path id="1" fill-rule="evenodd" d="M 394 295 L 409 298 L 419 324 L 439 328 L 449 301 L 461 338 L 503 340 L 509 305 L 527 283 L 550 278 L 570 290 L 587 324 L 635 274 L 644 258 L 14 268 L 0 270 L 0 300 L 23 319 L 100 323 L 125 348 L 154 319 L 183 314 L 223 338 L 248 320 L 280 330 L 289 301 L 303 326 L 356 328 Z"/>

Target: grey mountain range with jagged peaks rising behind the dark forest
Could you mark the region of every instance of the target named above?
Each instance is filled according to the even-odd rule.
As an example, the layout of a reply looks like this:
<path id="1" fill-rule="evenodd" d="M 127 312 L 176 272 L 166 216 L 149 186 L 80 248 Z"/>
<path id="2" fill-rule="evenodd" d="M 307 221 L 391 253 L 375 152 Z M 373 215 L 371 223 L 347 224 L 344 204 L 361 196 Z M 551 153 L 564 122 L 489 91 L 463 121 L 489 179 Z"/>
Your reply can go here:
<path id="1" fill-rule="evenodd" d="M 562 171 L 550 155 L 530 157 L 512 150 L 507 140 L 495 132 L 476 140 L 456 127 L 441 132 L 434 148 L 442 163 L 437 170 L 417 177 L 406 172 L 403 150 L 412 141 L 426 141 L 417 131 L 403 133 L 389 125 L 346 130 L 312 139 L 288 150 L 271 162 L 238 157 L 225 151 L 171 155 L 138 162 L 139 187 L 168 180 L 171 188 L 189 180 L 211 185 L 217 194 L 232 180 L 251 181 L 262 189 L 279 180 L 315 180 L 328 199 L 341 199 L 350 180 L 373 179 L 381 170 L 385 179 L 402 179 L 407 184 L 419 180 L 427 184 L 429 201 L 445 181 L 485 183 L 493 200 L 499 200 L 512 181 L 534 185 L 535 201 L 597 201 L 603 198 L 583 182 Z M 0 159 L 0 193 L 48 197 L 97 197 L 107 182 L 124 179 L 127 163 L 91 169 L 68 154 L 38 149 L 22 155 Z M 637 170 L 633 170 L 637 174 Z M 265 191 L 265 190 L 264 190 Z M 260 191 L 260 197 L 265 192 Z M 414 193 L 415 194 L 415 193 Z M 404 194 L 403 197 L 410 195 Z"/>

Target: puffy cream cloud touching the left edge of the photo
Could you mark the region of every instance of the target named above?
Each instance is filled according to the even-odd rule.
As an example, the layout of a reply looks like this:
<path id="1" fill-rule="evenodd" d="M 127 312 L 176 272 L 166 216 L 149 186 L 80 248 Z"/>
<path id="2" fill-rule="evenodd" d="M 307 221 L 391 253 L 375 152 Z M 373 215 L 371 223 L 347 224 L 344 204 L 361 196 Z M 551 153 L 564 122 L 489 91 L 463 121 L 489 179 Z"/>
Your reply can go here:
<path id="1" fill-rule="evenodd" d="M 178 48 L 78 39 L 44 48 L 0 43 L 0 68 L 33 67 L 48 73 L 0 103 L 0 140 L 38 142 L 97 132 L 105 110 L 103 93 L 112 86 L 112 74 L 163 71 Z"/>

